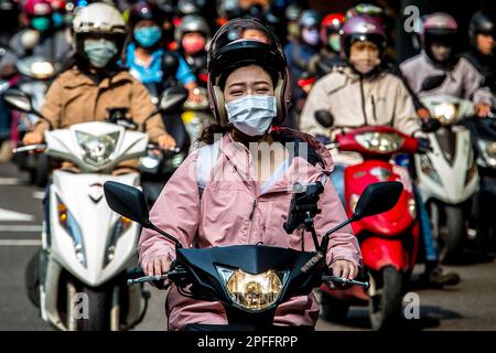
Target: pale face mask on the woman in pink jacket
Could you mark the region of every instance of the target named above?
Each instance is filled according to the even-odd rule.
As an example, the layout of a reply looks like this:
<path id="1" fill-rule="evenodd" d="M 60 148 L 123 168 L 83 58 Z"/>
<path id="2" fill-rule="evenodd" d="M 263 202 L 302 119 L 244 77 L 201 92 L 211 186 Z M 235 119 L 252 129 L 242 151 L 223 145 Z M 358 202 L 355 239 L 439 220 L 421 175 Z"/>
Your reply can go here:
<path id="1" fill-rule="evenodd" d="M 277 116 L 274 96 L 249 95 L 226 103 L 227 117 L 236 129 L 248 136 L 262 136 Z"/>

